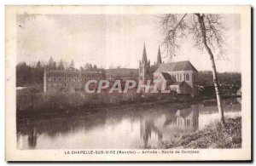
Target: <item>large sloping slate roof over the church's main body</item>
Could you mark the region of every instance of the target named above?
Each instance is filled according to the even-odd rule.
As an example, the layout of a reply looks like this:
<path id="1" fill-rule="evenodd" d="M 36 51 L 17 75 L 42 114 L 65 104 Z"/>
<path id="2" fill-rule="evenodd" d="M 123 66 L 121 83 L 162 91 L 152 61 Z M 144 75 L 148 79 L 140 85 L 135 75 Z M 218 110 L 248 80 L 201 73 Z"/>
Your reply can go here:
<path id="1" fill-rule="evenodd" d="M 177 61 L 172 63 L 161 64 L 160 67 L 155 72 L 175 72 L 175 71 L 196 71 L 195 67 L 189 62 L 189 60 L 185 61 Z"/>

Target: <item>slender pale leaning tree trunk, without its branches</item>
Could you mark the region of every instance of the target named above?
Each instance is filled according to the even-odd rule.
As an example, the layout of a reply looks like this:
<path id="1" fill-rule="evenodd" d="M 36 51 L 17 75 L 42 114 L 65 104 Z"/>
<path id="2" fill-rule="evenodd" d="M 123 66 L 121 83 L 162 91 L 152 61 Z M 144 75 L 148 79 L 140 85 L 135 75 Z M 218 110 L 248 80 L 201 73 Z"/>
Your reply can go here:
<path id="1" fill-rule="evenodd" d="M 216 98 L 217 98 L 217 104 L 218 104 L 218 113 L 220 116 L 220 120 L 221 120 L 221 124 L 224 126 L 225 125 L 225 121 L 224 121 L 224 110 L 222 107 L 222 103 L 221 103 L 221 97 L 219 94 L 219 85 L 218 85 L 218 77 L 217 77 L 217 72 L 216 72 L 216 66 L 215 66 L 215 61 L 214 61 L 214 56 L 212 54 L 212 50 L 209 48 L 208 44 L 207 44 L 207 33 L 206 33 L 206 26 L 204 23 L 204 15 L 201 14 L 196 14 L 199 24 L 200 24 L 200 28 L 201 28 L 201 37 L 203 39 L 203 43 L 204 43 L 204 47 L 205 49 L 207 49 L 207 53 L 210 56 L 210 60 L 212 63 L 212 77 L 213 77 L 213 85 L 215 88 L 215 92 L 216 92 Z"/>

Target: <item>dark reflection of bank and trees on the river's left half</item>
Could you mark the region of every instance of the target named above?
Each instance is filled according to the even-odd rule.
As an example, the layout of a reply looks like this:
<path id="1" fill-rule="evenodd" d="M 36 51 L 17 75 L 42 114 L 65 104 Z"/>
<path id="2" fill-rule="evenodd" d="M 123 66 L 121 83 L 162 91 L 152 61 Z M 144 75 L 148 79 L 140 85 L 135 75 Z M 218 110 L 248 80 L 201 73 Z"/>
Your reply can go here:
<path id="1" fill-rule="evenodd" d="M 127 117 L 132 117 L 131 119 L 133 120 L 137 117 L 135 111 L 126 111 L 95 110 L 94 112 L 81 113 L 73 117 L 60 117 L 37 121 L 26 119 L 20 121 L 23 123 L 17 122 L 17 141 L 20 135 L 28 135 L 28 145 L 32 147 L 36 146 L 36 139 L 38 135 L 41 134 L 49 135 L 50 137 L 55 137 L 59 134 L 68 135 L 69 133 L 76 133 L 82 130 L 90 131 L 91 129 L 100 128 L 109 122 L 115 125 Z"/>

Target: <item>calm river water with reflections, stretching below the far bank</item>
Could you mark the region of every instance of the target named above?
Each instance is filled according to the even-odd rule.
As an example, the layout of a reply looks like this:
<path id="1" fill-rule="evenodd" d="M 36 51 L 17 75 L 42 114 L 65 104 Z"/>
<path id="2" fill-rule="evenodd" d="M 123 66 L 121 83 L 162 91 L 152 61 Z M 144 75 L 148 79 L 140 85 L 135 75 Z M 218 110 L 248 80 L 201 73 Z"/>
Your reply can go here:
<path id="1" fill-rule="evenodd" d="M 225 117 L 241 112 L 241 99 L 224 100 Z M 96 111 L 20 124 L 20 149 L 155 148 L 177 134 L 193 132 L 218 119 L 212 102 L 165 104 Z"/>

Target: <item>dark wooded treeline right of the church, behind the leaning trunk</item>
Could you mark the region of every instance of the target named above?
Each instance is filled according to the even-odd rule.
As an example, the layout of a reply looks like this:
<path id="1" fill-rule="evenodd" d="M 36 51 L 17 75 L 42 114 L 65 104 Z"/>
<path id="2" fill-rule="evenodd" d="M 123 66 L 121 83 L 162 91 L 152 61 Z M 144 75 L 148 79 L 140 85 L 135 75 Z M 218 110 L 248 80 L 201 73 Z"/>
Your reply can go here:
<path id="1" fill-rule="evenodd" d="M 198 72 L 199 85 L 213 85 L 212 72 Z M 241 73 L 239 72 L 220 72 L 218 73 L 218 83 L 221 85 L 235 85 L 241 87 Z"/>

